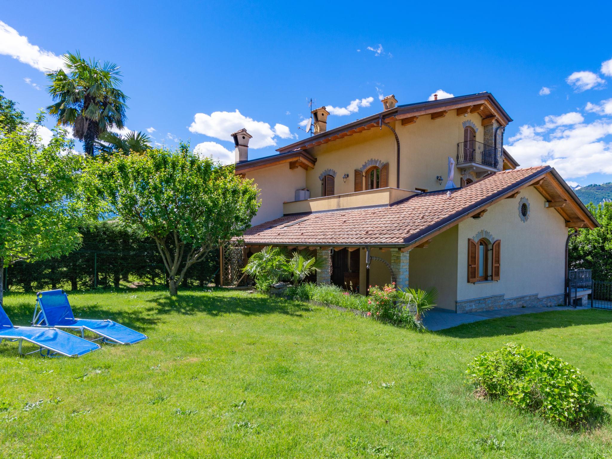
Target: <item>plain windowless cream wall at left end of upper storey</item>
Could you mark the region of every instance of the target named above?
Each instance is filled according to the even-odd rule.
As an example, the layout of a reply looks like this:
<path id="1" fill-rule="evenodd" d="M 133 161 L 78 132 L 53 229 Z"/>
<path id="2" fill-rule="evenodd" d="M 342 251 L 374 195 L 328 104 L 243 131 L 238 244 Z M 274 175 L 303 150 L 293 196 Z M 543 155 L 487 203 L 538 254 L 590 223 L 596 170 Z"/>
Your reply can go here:
<path id="1" fill-rule="evenodd" d="M 255 181 L 261 200 L 251 221 L 253 226 L 281 217 L 283 202 L 295 200 L 296 190 L 306 186 L 306 171 L 300 167 L 289 169 L 288 163 L 250 171 L 246 177 Z"/>

